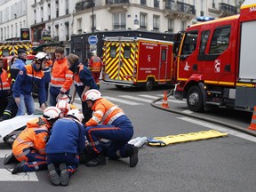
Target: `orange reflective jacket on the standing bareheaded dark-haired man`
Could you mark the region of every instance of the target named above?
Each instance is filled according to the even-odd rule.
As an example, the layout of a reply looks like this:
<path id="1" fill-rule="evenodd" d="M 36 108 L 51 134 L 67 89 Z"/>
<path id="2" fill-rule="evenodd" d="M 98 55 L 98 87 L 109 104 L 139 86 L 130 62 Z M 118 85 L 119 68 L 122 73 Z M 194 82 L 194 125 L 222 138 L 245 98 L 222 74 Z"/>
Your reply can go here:
<path id="1" fill-rule="evenodd" d="M 52 66 L 51 85 L 60 88 L 60 92 L 67 92 L 73 83 L 73 72 L 68 69 L 68 60 L 55 60 Z"/>

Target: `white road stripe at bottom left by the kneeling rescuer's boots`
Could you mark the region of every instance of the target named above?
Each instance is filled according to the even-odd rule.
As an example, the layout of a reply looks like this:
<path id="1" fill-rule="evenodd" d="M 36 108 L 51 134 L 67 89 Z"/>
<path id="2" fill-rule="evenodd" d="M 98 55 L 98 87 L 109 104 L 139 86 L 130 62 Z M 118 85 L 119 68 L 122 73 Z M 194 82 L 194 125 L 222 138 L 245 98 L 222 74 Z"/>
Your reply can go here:
<path id="1" fill-rule="evenodd" d="M 0 169 L 0 181 L 39 181 L 36 172 L 12 174 L 12 170 Z M 2 188 L 3 190 L 3 188 Z"/>

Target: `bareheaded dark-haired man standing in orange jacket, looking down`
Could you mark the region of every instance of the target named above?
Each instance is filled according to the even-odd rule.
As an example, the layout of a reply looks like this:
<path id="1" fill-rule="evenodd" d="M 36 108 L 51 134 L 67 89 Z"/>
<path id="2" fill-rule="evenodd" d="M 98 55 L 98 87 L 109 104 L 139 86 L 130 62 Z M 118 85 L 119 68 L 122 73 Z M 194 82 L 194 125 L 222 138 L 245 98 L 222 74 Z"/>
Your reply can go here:
<path id="1" fill-rule="evenodd" d="M 68 69 L 68 60 L 64 55 L 64 49 L 58 47 L 55 50 L 56 60 L 52 66 L 50 86 L 50 105 L 56 106 L 57 99 L 63 94 L 68 94 L 73 82 L 73 73 Z"/>

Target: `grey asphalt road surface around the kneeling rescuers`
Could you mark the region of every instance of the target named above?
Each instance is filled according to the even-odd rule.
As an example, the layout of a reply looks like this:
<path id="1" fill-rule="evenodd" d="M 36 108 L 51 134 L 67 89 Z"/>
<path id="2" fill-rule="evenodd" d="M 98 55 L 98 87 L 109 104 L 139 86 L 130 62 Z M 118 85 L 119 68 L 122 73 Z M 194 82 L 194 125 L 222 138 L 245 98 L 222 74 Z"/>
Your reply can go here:
<path id="1" fill-rule="evenodd" d="M 228 136 L 180 142 L 166 147 L 140 148 L 140 161 L 130 168 L 128 159 L 108 160 L 107 165 L 86 167 L 81 164 L 72 176 L 67 187 L 54 187 L 48 179 L 47 171 L 36 172 L 31 179 L 23 180 L 28 175 L 19 176 L 20 181 L 0 181 L 1 191 L 255 191 L 255 137 L 243 132 L 236 132 L 218 124 L 210 124 L 188 116 L 153 108 L 150 103 L 163 95 L 166 87 L 144 92 L 140 89 L 116 90 L 113 85 L 100 85 L 105 97 L 113 100 L 132 120 L 134 138 L 138 136 L 157 137 L 179 135 L 189 132 L 202 132 L 218 129 L 228 132 Z M 169 98 L 172 100 L 172 98 Z M 78 100 L 77 100 L 78 102 Z M 157 102 L 156 102 L 157 104 Z M 161 102 L 158 102 L 161 105 Z M 168 102 L 170 108 L 186 111 L 184 103 Z M 174 107 L 175 106 L 175 107 Z M 232 115 L 230 112 L 209 112 L 207 116 L 224 119 L 230 123 L 244 126 L 250 124 L 251 114 Z M 236 113 L 236 112 L 235 112 Z M 228 116 L 229 115 L 229 116 Z M 203 116 L 203 115 L 201 115 Z M 216 117 L 217 116 L 217 117 Z M 244 117 L 243 117 L 244 116 Z M 0 143 L 2 154 L 10 149 Z M 12 168 L 14 164 L 4 166 L 0 158 L 0 172 Z M 8 176 L 4 172 L 0 180 Z"/>

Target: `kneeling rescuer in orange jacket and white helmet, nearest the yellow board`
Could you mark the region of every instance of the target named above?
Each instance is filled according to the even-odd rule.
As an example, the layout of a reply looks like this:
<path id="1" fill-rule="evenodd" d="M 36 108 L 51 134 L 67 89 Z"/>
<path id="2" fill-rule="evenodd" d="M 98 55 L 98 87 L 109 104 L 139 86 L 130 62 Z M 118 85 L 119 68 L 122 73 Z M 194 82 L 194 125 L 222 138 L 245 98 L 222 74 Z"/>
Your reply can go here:
<path id="1" fill-rule="evenodd" d="M 85 92 L 84 97 L 88 107 L 94 111 L 92 118 L 85 124 L 85 135 L 92 150 L 97 154 L 91 161 L 86 162 L 86 165 L 92 167 L 106 164 L 99 139 L 107 139 L 111 140 L 108 147 L 109 158 L 130 157 L 130 167 L 136 166 L 139 161 L 139 149 L 127 143 L 132 139 L 133 126 L 124 111 L 102 98 L 98 90 L 89 90 Z"/>

